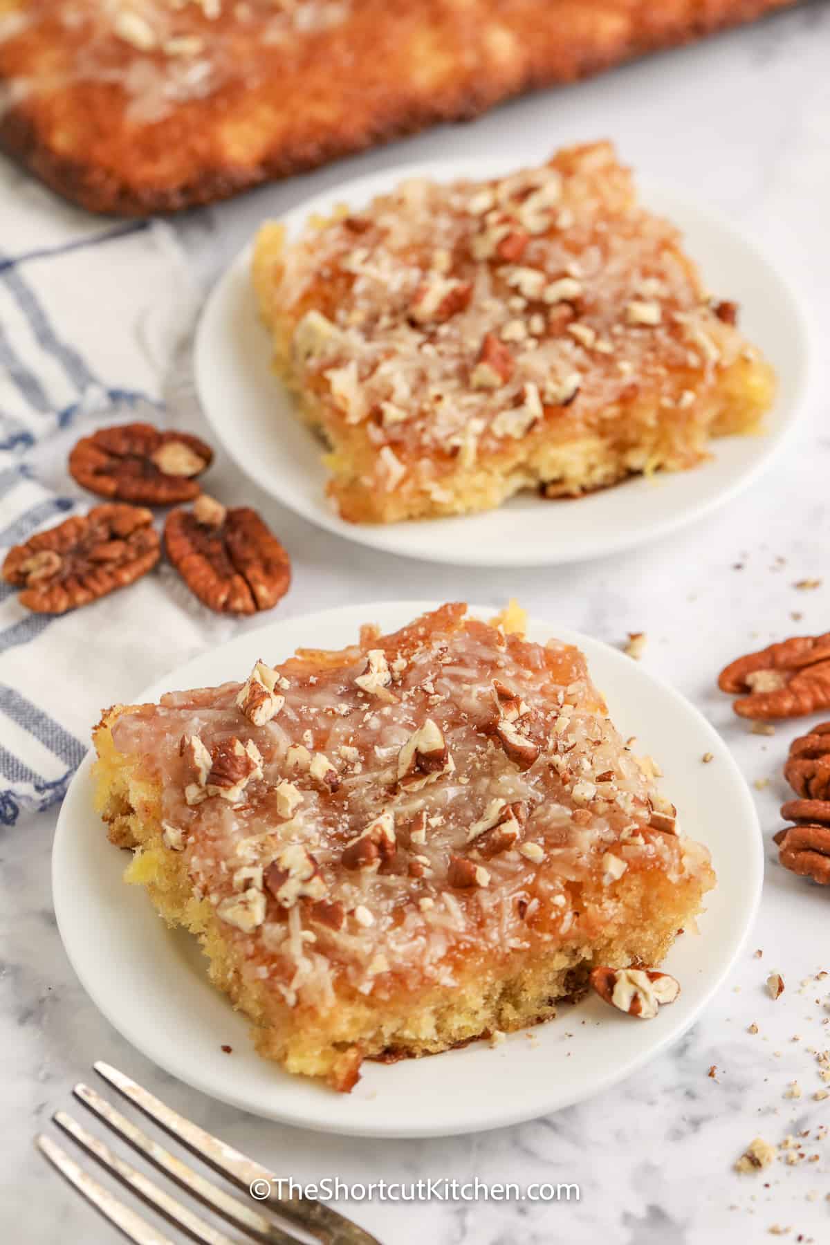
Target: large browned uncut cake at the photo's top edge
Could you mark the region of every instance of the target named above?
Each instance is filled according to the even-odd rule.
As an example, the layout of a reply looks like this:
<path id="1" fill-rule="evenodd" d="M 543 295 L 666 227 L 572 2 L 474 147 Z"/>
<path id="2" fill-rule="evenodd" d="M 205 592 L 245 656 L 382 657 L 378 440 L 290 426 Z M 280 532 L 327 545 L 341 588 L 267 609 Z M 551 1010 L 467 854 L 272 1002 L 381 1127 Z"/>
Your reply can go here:
<path id="1" fill-rule="evenodd" d="M 793 0 L 0 0 L 0 146 L 172 212 Z"/>

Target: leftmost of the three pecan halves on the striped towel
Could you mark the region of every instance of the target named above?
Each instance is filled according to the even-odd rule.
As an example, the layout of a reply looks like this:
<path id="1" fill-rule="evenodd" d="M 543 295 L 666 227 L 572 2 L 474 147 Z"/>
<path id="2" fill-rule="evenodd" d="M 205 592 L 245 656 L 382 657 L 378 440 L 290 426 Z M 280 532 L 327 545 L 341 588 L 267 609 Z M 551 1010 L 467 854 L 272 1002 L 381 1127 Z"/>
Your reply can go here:
<path id="1" fill-rule="evenodd" d="M 26 609 L 65 614 L 141 579 L 159 555 L 149 510 L 96 505 L 10 549 L 2 578 L 22 588 Z"/>

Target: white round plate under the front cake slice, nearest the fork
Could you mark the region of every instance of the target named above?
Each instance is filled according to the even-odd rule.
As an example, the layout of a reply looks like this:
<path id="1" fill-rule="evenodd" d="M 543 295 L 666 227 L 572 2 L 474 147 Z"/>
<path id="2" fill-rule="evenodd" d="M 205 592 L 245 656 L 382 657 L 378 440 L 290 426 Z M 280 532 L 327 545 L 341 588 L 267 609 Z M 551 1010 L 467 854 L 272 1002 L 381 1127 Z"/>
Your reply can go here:
<path id="1" fill-rule="evenodd" d="M 138 700 L 238 679 L 258 657 L 280 661 L 300 645 L 340 649 L 362 622 L 392 630 L 432 608 L 386 603 L 273 622 L 189 661 Z M 473 609 L 483 618 L 492 613 Z M 725 745 L 676 691 L 597 640 L 530 624 L 530 639 L 551 635 L 582 649 L 622 735 L 636 735 L 642 751 L 660 759 L 682 824 L 712 852 L 718 885 L 699 936 L 687 933 L 666 960 L 682 986 L 677 1002 L 637 1021 L 586 997 L 538 1026 L 533 1046 L 515 1033 L 497 1048 L 474 1042 L 391 1066 L 368 1062 L 351 1094 L 292 1077 L 254 1053 L 246 1021 L 209 985 L 195 939 L 169 930 L 143 889 L 122 883 L 124 854 L 107 844 L 92 809 L 87 757 L 58 818 L 52 890 L 66 952 L 107 1020 L 148 1058 L 214 1098 L 287 1124 L 361 1137 L 437 1137 L 531 1119 L 630 1076 L 676 1041 L 723 981 L 753 923 L 763 875 L 754 804 Z M 711 764 L 701 764 L 704 752 Z M 223 1053 L 223 1043 L 233 1055 Z"/>

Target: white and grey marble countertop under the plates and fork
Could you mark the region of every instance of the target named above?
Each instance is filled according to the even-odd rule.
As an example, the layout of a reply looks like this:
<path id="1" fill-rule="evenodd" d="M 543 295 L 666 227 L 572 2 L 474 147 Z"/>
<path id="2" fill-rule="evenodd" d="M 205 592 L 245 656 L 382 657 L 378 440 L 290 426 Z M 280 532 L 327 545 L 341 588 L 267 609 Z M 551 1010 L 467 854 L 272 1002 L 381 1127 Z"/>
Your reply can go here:
<path id="1" fill-rule="evenodd" d="M 714 687 L 735 654 L 830 626 L 830 9 L 811 4 L 704 45 L 632 65 L 562 92 L 511 103 L 474 125 L 445 127 L 316 174 L 188 214 L 172 228 L 209 283 L 265 215 L 360 172 L 401 161 L 485 154 L 508 142 L 516 161 L 561 142 L 610 136 L 636 168 L 725 210 L 775 255 L 810 315 L 816 341 L 809 410 L 770 473 L 714 518 L 635 553 L 589 565 L 499 573 L 402 563 L 347 544 L 264 503 L 291 549 L 295 586 L 281 608 L 398 596 L 467 596 L 535 615 L 611 644 L 646 631 L 643 665 L 688 696 L 723 733 L 754 796 L 768 870 L 757 928 L 707 1015 L 667 1053 L 577 1107 L 472 1137 L 372 1142 L 324 1137 L 255 1119 L 173 1082 L 98 1015 L 63 955 L 50 898 L 55 813 L 4 830 L 0 1225 L 5 1240 L 105 1245 L 114 1233 L 35 1154 L 30 1138 L 66 1107 L 72 1083 L 103 1058 L 277 1173 L 297 1180 L 421 1177 L 581 1186 L 577 1201 L 424 1201 L 341 1205 L 386 1245 L 703 1245 L 830 1240 L 830 1098 L 809 1046 L 823 1047 L 830 1011 L 814 977 L 828 954 L 829 896 L 784 873 L 772 835 L 784 798 L 780 766 L 798 727 L 753 735 Z M 229 487 L 250 494 L 230 466 Z M 821 579 L 799 590 L 803 579 Z M 137 691 L 138 688 L 133 688 Z M 767 784 L 765 784 L 767 783 Z M 706 838 L 702 828 L 701 837 Z M 102 930 L 102 937 L 106 931 Z M 757 950 L 763 957 L 757 957 Z M 764 990 L 780 971 L 786 991 Z M 755 1025 L 758 1032 L 749 1032 Z M 828 1043 L 830 1045 L 830 1042 Z M 717 1071 L 709 1076 L 709 1068 Z M 541 1073 L 544 1074 L 544 1072 Z M 786 1097 L 796 1081 L 801 1097 Z M 490 1093 L 509 1094 L 498 1083 Z M 816 1134 L 818 1129 L 818 1134 Z M 801 1138 L 805 1159 L 739 1177 L 733 1163 L 760 1134 Z M 816 1155 L 813 1159 L 813 1155 Z M 799 1235 L 800 1234 L 800 1235 Z"/>

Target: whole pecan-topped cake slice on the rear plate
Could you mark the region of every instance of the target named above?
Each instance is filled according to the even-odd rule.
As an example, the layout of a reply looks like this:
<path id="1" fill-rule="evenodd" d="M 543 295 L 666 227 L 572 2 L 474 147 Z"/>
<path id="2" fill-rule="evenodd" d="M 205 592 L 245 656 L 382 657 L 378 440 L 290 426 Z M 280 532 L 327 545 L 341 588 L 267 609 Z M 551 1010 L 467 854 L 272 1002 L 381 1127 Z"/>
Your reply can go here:
<path id="1" fill-rule="evenodd" d="M 773 400 L 735 304 L 706 293 L 609 143 L 498 181 L 411 179 L 291 242 L 265 225 L 254 281 L 355 522 L 693 467 Z"/>

